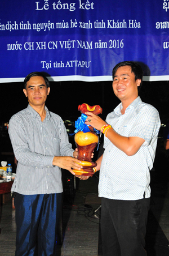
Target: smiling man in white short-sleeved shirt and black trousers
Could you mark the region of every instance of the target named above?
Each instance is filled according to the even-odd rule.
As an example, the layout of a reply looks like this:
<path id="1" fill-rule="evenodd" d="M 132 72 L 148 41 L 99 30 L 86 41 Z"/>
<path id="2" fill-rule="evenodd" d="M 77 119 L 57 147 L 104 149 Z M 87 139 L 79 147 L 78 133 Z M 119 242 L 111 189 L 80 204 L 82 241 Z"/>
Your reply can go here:
<path id="1" fill-rule="evenodd" d="M 135 62 L 113 69 L 113 91 L 121 104 L 106 122 L 86 112 L 87 125 L 104 133 L 100 170 L 101 236 L 104 256 L 145 256 L 145 233 L 153 167 L 161 122 L 158 111 L 138 96 L 143 70 Z M 86 177 L 81 177 L 83 180 Z"/>

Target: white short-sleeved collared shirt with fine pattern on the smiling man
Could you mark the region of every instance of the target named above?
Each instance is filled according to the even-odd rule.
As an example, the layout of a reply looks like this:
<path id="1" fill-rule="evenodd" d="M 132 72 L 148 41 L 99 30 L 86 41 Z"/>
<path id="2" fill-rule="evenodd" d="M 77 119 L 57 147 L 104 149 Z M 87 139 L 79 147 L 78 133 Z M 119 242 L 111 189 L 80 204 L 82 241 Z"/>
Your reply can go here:
<path id="1" fill-rule="evenodd" d="M 104 136 L 104 155 L 100 168 L 99 197 L 137 200 L 150 197 L 150 169 L 153 168 L 157 136 L 161 126 L 158 111 L 137 97 L 121 113 L 122 104 L 106 117 L 120 135 L 143 138 L 145 142 L 133 156 L 119 150 Z"/>

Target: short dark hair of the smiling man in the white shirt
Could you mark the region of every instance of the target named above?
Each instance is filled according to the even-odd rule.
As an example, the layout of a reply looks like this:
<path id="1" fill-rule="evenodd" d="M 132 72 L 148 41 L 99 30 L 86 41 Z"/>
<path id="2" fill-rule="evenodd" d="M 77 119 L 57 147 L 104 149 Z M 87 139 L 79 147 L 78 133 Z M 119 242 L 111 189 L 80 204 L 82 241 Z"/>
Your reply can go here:
<path id="1" fill-rule="evenodd" d="M 122 62 L 118 63 L 117 65 L 115 65 L 115 67 L 113 68 L 113 71 L 112 71 L 113 79 L 114 79 L 115 73 L 118 70 L 118 68 L 123 67 L 123 66 L 131 67 L 131 72 L 133 72 L 135 74 L 135 81 L 137 79 L 141 79 L 140 86 L 138 86 L 138 91 L 140 91 L 141 85 L 143 83 L 143 69 L 141 68 L 141 66 L 139 64 L 137 64 L 134 61 L 122 61 Z"/>

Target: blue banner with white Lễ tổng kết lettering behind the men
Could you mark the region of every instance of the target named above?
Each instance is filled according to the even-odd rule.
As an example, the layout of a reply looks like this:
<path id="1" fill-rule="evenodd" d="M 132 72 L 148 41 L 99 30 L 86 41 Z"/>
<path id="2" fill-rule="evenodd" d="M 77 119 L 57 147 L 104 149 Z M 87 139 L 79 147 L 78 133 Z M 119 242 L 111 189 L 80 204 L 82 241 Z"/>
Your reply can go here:
<path id="1" fill-rule="evenodd" d="M 168 15 L 168 0 L 1 0 L 0 82 L 112 80 L 121 61 L 169 80 Z"/>

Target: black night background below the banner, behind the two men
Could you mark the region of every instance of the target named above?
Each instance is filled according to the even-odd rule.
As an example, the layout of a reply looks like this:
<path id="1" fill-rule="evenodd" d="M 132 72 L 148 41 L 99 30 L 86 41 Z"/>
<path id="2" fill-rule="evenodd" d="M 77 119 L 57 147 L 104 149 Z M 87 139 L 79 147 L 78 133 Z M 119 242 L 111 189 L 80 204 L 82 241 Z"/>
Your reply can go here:
<path id="1" fill-rule="evenodd" d="M 63 120 L 76 121 L 81 113 L 78 105 L 87 103 L 89 105 L 100 105 L 103 108 L 101 118 L 105 120 L 106 115 L 120 103 L 114 95 L 112 81 L 108 82 L 50 82 L 51 92 L 47 98 L 47 108 L 61 116 Z M 28 105 L 28 98 L 23 93 L 23 83 L 1 83 L 0 84 L 0 152 L 12 152 L 10 139 L 8 138 L 5 122 L 9 122 L 11 116 Z M 169 83 L 168 81 L 143 82 L 139 93 L 145 103 L 152 104 L 159 112 L 161 122 L 166 124 L 169 120 Z M 74 127 L 73 127 L 74 129 Z M 163 126 L 159 132 L 162 140 Z M 70 142 L 74 143 L 73 136 Z M 73 145 L 74 146 L 74 145 Z M 162 146 L 162 142 L 161 142 Z M 162 146 L 163 147 L 163 146 Z M 3 159 L 2 159 L 3 158 Z M 0 161 L 8 160 L 0 155 Z"/>

